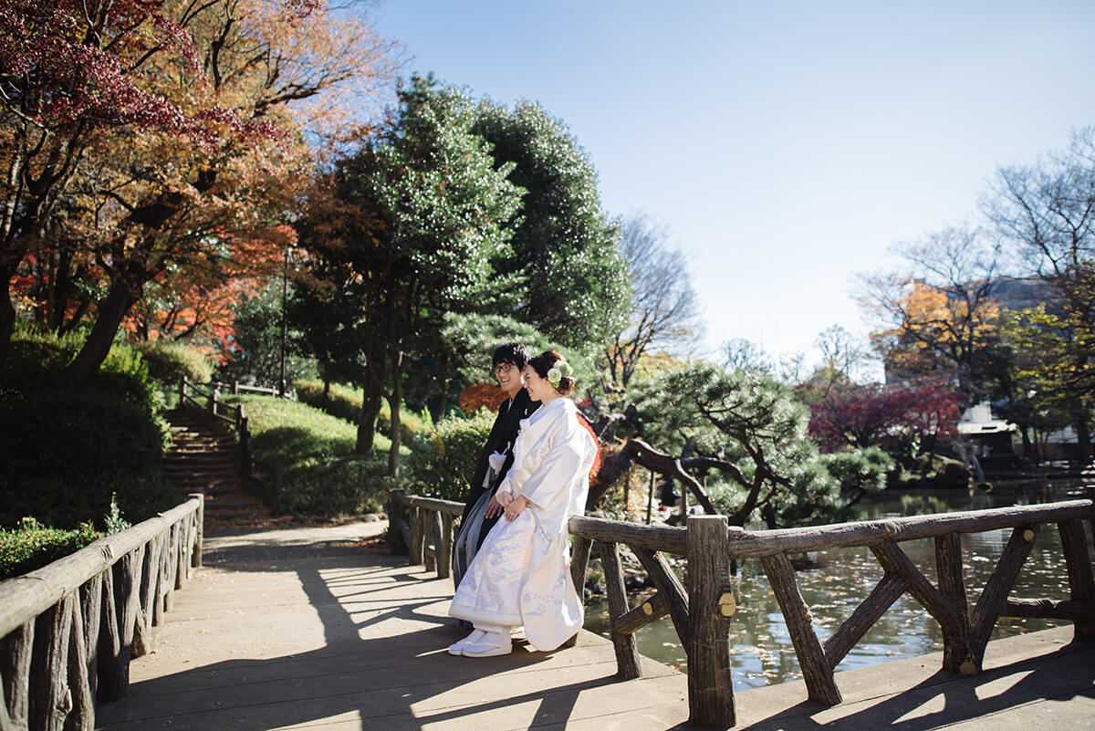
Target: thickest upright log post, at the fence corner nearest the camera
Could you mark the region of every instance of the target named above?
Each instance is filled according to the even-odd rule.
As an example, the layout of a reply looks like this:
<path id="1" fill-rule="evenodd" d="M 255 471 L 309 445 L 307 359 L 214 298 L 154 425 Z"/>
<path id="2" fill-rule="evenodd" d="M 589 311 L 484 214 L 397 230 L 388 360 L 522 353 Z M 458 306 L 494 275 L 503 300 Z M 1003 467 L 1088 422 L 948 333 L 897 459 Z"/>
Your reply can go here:
<path id="1" fill-rule="evenodd" d="M 705 727 L 734 726 L 729 618 L 719 597 L 729 583 L 725 515 L 688 519 L 688 705 L 689 720 Z"/>

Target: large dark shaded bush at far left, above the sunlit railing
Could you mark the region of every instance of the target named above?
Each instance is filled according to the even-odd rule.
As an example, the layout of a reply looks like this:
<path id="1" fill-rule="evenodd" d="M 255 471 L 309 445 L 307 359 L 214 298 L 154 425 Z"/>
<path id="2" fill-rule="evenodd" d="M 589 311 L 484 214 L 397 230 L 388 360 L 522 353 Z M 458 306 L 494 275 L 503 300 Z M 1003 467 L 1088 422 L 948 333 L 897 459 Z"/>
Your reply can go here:
<path id="1" fill-rule="evenodd" d="M 101 393 L 35 392 L 0 403 L 0 525 L 24 517 L 73 530 L 112 494 L 134 521 L 178 502 L 163 485 L 169 434 L 141 406 Z"/>

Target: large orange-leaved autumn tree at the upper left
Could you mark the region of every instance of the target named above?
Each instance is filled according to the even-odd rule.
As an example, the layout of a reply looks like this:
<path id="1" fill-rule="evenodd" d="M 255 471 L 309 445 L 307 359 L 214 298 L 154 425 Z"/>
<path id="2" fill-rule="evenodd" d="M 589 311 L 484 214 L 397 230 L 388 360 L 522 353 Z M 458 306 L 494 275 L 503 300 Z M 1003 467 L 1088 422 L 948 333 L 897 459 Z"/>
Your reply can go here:
<path id="1" fill-rule="evenodd" d="M 77 384 L 99 367 L 146 287 L 172 267 L 176 278 L 199 271 L 220 280 L 253 264 L 263 266 L 247 274 L 273 270 L 287 245 L 284 213 L 309 163 L 287 106 L 382 66 L 367 28 L 310 1 L 113 3 L 93 15 L 108 19 L 103 27 L 84 10 L 51 7 L 53 21 L 74 14 L 79 32 L 43 43 L 66 49 L 57 58 L 69 65 L 79 57 L 65 44 L 90 43 L 95 73 L 54 63 L 31 91 L 91 101 L 42 132 L 61 146 L 68 164 L 54 169 L 56 154 L 42 156 L 46 164 L 33 174 L 50 182 L 54 198 L 23 195 L 12 228 L 23 254 L 35 251 L 38 263 L 49 263 L 44 281 L 51 292 L 70 291 L 76 277 L 97 282 L 83 290 L 94 294 L 83 309 L 94 324 L 64 376 Z M 114 84 L 106 94 L 104 78 Z M 104 96 L 105 106 L 96 101 Z M 23 188 L 36 189 L 15 186 Z M 13 269 L 25 258 L 18 248 L 4 258 Z"/>

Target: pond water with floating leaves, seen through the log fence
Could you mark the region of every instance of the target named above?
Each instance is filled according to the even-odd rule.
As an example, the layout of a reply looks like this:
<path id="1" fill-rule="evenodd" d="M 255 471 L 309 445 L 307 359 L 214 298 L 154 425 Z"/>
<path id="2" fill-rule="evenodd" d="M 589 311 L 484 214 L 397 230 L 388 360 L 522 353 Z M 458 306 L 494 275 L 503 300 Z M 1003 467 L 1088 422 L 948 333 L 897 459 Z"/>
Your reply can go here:
<path id="1" fill-rule="evenodd" d="M 903 495 L 881 494 L 864 502 L 866 519 L 1003 508 L 1083 497 L 1079 480 L 1016 483 L 993 490 L 917 491 Z M 1085 521 L 1085 530 L 1090 523 Z M 961 536 L 967 600 L 972 607 L 989 575 L 995 568 L 1011 529 Z M 1088 547 L 1091 536 L 1088 535 Z M 935 548 L 930 538 L 907 541 L 900 547 L 918 568 L 935 582 Z M 848 615 L 867 596 L 883 571 L 867 548 L 822 550 L 793 557 L 795 576 L 803 599 L 814 614 L 814 625 L 823 642 Z M 759 687 L 802 676 L 791 643 L 791 635 L 759 560 L 738 564 L 734 595 L 737 613 L 730 627 L 734 685 Z M 1068 576 L 1056 526 L 1045 525 L 1023 567 L 1012 596 L 1068 599 Z M 635 599 L 631 599 L 635 605 Z M 1023 631 L 1046 629 L 1061 624 L 1048 619 L 1000 619 L 992 638 Z M 609 634 L 608 605 L 591 602 L 586 606 L 586 628 Z M 687 658 L 667 616 L 636 633 L 638 651 L 673 668 L 684 670 Z M 943 649 L 938 625 L 908 593 L 883 615 L 837 666 L 838 671 L 872 665 Z"/>

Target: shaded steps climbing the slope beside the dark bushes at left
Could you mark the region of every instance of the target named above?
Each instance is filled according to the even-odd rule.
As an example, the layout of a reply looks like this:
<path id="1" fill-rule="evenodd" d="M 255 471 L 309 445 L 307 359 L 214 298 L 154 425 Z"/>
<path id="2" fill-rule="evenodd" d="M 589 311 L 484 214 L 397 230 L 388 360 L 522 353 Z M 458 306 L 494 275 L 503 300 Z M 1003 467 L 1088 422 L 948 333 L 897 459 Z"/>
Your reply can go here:
<path id="1" fill-rule="evenodd" d="M 207 535 L 270 522 L 258 498 L 243 491 L 239 444 L 210 416 L 183 409 L 165 414 L 172 445 L 163 455 L 163 476 L 181 492 L 203 492 Z"/>

